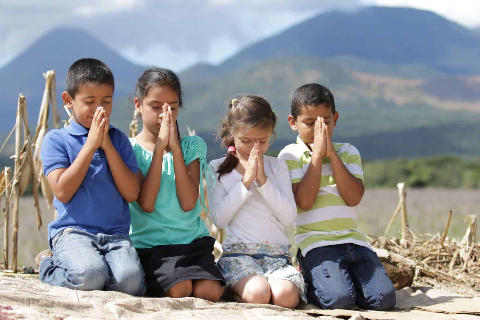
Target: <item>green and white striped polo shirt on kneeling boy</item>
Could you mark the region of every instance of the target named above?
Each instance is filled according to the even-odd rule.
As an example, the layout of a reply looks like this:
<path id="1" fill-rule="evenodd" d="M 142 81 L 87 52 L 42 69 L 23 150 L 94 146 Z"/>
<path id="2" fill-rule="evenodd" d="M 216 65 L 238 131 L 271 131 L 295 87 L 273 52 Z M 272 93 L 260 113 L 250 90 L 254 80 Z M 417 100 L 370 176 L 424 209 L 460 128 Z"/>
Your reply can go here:
<path id="1" fill-rule="evenodd" d="M 340 156 L 348 171 L 363 180 L 360 153 L 349 143 L 333 143 L 336 153 Z M 305 142 L 297 137 L 297 143 L 287 145 L 278 154 L 290 171 L 291 183 L 300 182 L 307 172 L 312 152 Z M 371 247 L 357 229 L 357 213 L 340 197 L 333 176 L 329 158 L 322 161 L 322 178 L 317 198 L 310 210 L 297 207 L 295 219 L 295 242 L 305 256 L 311 249 L 342 243 L 355 243 Z"/>

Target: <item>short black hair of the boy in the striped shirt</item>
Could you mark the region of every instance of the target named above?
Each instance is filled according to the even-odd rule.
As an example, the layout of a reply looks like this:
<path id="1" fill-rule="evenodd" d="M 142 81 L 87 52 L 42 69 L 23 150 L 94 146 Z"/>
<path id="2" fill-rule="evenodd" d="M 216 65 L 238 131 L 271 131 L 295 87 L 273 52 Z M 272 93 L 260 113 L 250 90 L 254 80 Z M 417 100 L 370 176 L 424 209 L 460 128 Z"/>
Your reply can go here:
<path id="1" fill-rule="evenodd" d="M 291 112 L 293 119 L 297 119 L 302 106 L 326 105 L 335 114 L 335 101 L 333 94 L 327 87 L 318 83 L 304 84 L 292 96 Z"/>

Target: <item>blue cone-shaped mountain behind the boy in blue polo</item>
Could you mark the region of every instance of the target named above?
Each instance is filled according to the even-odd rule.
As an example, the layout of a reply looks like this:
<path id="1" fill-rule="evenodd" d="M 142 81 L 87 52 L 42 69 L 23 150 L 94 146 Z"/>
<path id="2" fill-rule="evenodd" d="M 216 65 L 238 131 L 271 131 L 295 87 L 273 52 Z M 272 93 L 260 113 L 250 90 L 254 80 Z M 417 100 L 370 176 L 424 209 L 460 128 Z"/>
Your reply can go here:
<path id="1" fill-rule="evenodd" d="M 10 130 L 13 126 L 19 93 L 27 98 L 29 119 L 36 123 L 45 87 L 42 73 L 50 69 L 56 71 L 60 110 L 60 94 L 65 88 L 67 69 L 80 58 L 100 59 L 110 67 L 115 77 L 115 99 L 133 92 L 136 79 L 143 69 L 121 58 L 83 30 L 66 27 L 54 29 L 0 69 L 0 127 Z"/>

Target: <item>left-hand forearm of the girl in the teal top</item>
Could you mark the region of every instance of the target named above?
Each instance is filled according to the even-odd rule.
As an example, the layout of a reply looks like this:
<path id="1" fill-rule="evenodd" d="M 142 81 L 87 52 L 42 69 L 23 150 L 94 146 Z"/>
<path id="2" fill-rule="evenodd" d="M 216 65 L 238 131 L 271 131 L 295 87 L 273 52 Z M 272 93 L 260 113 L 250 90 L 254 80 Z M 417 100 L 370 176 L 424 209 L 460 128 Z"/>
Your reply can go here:
<path id="1" fill-rule="evenodd" d="M 137 204 L 145 212 L 155 210 L 155 201 L 162 182 L 163 152 L 163 148 L 155 147 L 152 162 L 140 185 Z"/>

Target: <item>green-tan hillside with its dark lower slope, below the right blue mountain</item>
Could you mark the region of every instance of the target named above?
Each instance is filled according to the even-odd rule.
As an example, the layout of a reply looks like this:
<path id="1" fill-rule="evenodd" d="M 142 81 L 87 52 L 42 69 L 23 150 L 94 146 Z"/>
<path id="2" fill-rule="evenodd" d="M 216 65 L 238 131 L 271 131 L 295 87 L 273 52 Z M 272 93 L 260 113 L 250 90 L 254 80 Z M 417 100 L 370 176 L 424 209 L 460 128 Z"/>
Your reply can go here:
<path id="1" fill-rule="evenodd" d="M 452 77 L 450 81 L 457 81 L 457 86 L 445 85 L 437 90 L 435 85 L 441 80 L 381 76 L 354 71 L 326 59 L 284 57 L 254 63 L 210 80 L 193 79 L 180 73 L 185 93 L 180 130 L 186 133 L 186 125 L 195 129 L 207 142 L 209 159 L 225 153 L 215 142 L 215 134 L 225 115 L 226 102 L 236 93 L 264 95 L 276 110 L 273 154 L 293 142 L 296 135 L 286 121 L 291 95 L 300 85 L 311 82 L 323 83 L 335 95 L 340 119 L 334 140 L 356 145 L 365 159 L 475 155 L 480 148 L 480 98 L 475 95 L 480 92 L 480 83 L 476 77 Z M 468 89 L 461 81 L 472 86 L 464 96 L 459 95 Z M 454 95 L 457 91 L 458 95 Z M 121 103 L 121 109 L 132 106 L 130 101 Z"/>

